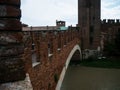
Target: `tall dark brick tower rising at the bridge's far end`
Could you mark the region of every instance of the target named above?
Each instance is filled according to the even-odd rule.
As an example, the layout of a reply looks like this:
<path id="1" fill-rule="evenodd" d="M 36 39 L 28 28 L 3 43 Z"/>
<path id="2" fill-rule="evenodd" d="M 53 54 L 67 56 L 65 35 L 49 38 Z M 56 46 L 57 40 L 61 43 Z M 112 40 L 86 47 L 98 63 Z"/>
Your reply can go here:
<path id="1" fill-rule="evenodd" d="M 97 49 L 100 35 L 100 0 L 78 0 L 78 26 L 83 49 Z"/>

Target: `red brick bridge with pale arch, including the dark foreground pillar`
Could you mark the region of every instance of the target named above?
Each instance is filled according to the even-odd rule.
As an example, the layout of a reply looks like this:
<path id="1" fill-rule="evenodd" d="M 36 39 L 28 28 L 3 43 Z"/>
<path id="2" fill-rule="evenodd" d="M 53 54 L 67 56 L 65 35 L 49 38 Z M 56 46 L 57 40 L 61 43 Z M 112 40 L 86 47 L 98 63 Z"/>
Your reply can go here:
<path id="1" fill-rule="evenodd" d="M 22 90 L 59 90 L 70 60 L 81 58 L 81 31 L 22 31 L 20 17 L 20 0 L 0 0 L 0 89 L 16 90 L 29 77 Z"/>

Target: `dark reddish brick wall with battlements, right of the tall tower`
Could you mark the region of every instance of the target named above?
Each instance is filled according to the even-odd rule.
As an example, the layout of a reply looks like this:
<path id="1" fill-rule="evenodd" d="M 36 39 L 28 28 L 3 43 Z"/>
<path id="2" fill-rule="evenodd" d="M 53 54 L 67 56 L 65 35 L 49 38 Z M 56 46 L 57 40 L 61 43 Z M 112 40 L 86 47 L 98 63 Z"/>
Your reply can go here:
<path id="1" fill-rule="evenodd" d="M 118 20 L 118 22 L 117 22 Z M 108 19 L 101 21 L 101 32 L 104 35 L 105 41 L 112 41 L 116 37 L 116 33 L 120 30 L 120 20 Z"/>

